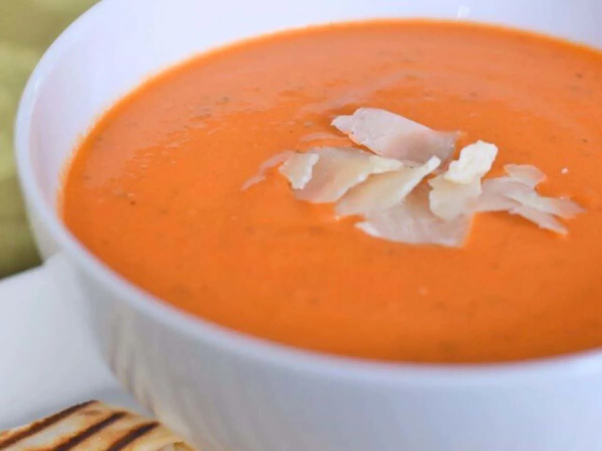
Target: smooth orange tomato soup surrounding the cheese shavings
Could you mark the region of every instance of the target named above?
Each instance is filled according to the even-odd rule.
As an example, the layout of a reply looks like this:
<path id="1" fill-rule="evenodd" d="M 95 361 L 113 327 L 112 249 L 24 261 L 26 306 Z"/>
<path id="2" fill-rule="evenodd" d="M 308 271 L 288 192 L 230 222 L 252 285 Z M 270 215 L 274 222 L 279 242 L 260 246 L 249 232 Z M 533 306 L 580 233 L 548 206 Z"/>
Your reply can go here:
<path id="1" fill-rule="evenodd" d="M 135 56 L 135 55 L 132 55 Z M 602 55 L 507 29 L 365 22 L 270 35 L 144 84 L 93 127 L 63 218 L 108 266 L 190 314 L 253 336 L 389 361 L 491 362 L 602 345 Z M 241 191 L 330 121 L 385 108 L 459 145 L 497 144 L 587 212 L 566 238 L 478 215 L 461 249 L 370 238 L 284 177 Z M 335 140 L 348 143 L 343 138 Z"/>

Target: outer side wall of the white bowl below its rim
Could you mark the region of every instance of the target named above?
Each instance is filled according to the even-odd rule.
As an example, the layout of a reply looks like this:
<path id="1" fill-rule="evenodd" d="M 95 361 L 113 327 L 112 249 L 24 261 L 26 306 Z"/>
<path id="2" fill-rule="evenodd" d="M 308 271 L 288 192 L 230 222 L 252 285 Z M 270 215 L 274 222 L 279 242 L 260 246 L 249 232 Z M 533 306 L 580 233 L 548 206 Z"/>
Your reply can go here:
<path id="1" fill-rule="evenodd" d="M 334 369 L 313 370 L 179 333 L 93 278 L 82 281 L 120 381 L 200 449 L 585 451 L 602 443 L 599 367 L 570 376 L 545 367 L 389 375 L 333 360 Z"/>

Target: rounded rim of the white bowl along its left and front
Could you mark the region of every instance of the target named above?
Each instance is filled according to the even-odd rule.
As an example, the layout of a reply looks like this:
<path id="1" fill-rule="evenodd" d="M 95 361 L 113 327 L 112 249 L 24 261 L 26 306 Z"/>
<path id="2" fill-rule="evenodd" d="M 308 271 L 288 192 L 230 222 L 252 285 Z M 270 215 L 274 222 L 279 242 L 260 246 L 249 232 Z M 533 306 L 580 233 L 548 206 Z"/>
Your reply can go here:
<path id="1" fill-rule="evenodd" d="M 98 258 L 63 225 L 57 212 L 49 206 L 37 183 L 29 152 L 31 118 L 37 102 L 39 86 L 57 66 L 60 55 L 96 16 L 111 13 L 126 0 L 102 0 L 75 20 L 45 52 L 26 84 L 15 121 L 15 152 L 17 174 L 28 205 L 28 214 L 35 212 L 45 224 L 49 235 L 75 267 L 104 286 L 111 295 L 145 314 L 152 321 L 163 323 L 170 333 L 185 334 L 235 357 L 250 359 L 294 372 L 365 383 L 412 385 L 415 387 L 508 385 L 523 384 L 535 379 L 565 379 L 574 376 L 599 375 L 602 372 L 602 349 L 526 361 L 481 364 L 397 363 L 322 354 L 292 348 L 276 342 L 239 333 L 179 310 L 157 296 L 123 278 Z M 31 216 L 30 216 L 31 217 Z"/>

